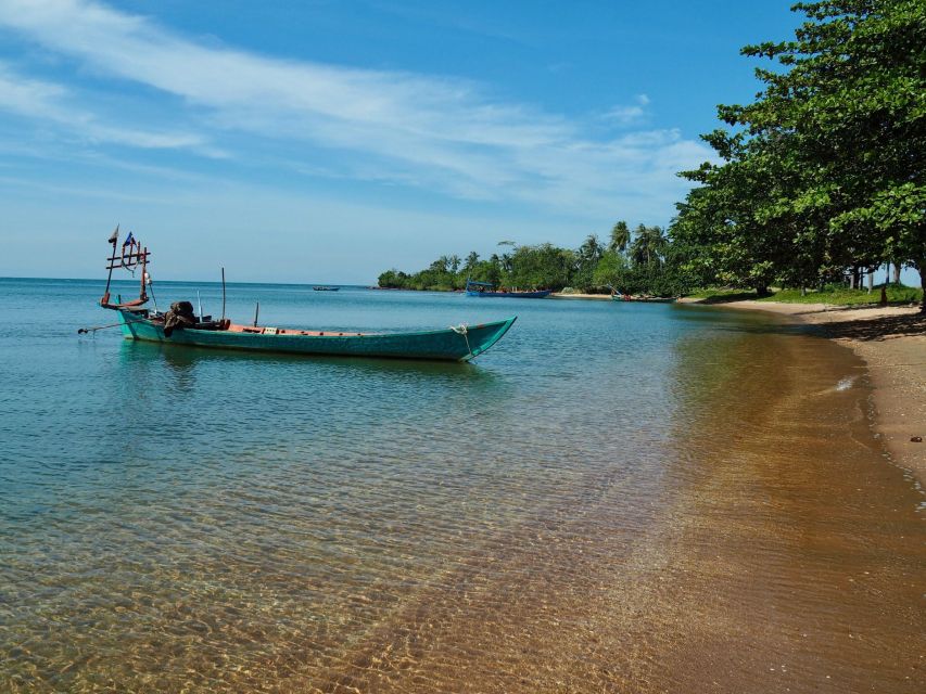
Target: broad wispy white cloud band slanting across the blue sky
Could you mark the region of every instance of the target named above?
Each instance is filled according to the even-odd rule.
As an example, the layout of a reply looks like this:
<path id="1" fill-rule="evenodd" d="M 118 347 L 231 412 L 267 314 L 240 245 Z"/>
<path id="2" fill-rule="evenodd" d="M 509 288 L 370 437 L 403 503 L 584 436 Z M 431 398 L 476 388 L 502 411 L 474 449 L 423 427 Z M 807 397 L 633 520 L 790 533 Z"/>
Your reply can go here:
<path id="1" fill-rule="evenodd" d="M 84 132 L 114 143 L 244 154 L 237 149 L 272 142 L 303 170 L 583 213 L 613 208 L 627 190 L 645 196 L 649 208 L 671 207 L 681 189 L 674 171 L 708 156 L 673 131 L 595 140 L 582 123 L 499 103 L 464 79 L 216 47 L 90 0 L 0 0 L 0 27 L 77 61 L 93 79 L 153 88 L 217 141 L 162 132 L 148 123 L 105 126 L 85 113 L 78 121 Z M 10 94 L 0 102 L 21 114 L 62 124 L 59 104 L 77 98 L 59 85 L 7 76 Z M 635 125 L 647 105 L 640 95 L 607 117 Z"/>

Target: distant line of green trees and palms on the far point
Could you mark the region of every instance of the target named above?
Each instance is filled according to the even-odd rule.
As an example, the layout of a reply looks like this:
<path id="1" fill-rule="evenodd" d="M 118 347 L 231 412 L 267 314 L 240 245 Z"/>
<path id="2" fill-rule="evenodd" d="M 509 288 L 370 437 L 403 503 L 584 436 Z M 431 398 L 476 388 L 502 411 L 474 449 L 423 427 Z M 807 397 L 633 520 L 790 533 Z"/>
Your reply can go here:
<path id="1" fill-rule="evenodd" d="M 677 253 L 680 247 L 661 227 L 640 224 L 631 231 L 626 222 L 619 221 L 606 244 L 591 234 L 575 249 L 549 243 L 519 246 L 510 241 L 499 246 L 487 259 L 472 252 L 465 259 L 441 256 L 413 274 L 388 270 L 380 274 L 379 285 L 449 292 L 464 288 L 471 279 L 519 290 L 571 287 L 606 293 L 613 287 L 620 293 L 655 296 L 680 296 L 699 286 L 699 279 L 683 267 L 686 257 Z"/>

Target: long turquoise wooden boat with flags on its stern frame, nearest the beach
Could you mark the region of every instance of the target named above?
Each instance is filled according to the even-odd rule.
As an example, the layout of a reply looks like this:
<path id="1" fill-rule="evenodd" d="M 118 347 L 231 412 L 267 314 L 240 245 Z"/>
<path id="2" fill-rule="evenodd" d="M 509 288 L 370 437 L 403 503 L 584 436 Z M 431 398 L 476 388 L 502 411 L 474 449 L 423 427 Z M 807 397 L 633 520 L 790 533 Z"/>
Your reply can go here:
<path id="1" fill-rule="evenodd" d="M 113 233 L 110 243 L 113 244 L 107 265 L 110 275 L 100 306 L 117 312 L 119 322 L 112 326 L 119 326 L 126 339 L 295 355 L 469 361 L 502 339 L 517 319 L 512 317 L 479 325 L 457 325 L 420 332 L 355 333 L 258 325 L 255 313 L 253 324 L 243 325 L 225 318 L 224 269 L 223 316 L 219 320 L 213 320 L 211 316 L 196 317 L 188 301 L 173 304 L 169 311 L 162 313 L 156 310 L 156 303 L 154 310 L 145 307 L 150 291 L 153 298 L 151 275 L 148 273 L 148 248 L 138 244 L 130 234 L 123 244 L 122 253 L 117 253 L 118 229 Z M 111 303 L 110 283 L 113 270 L 136 267 L 141 269 L 139 298 L 125 304 L 120 300 Z M 78 332 L 94 330 L 101 329 L 81 329 Z"/>

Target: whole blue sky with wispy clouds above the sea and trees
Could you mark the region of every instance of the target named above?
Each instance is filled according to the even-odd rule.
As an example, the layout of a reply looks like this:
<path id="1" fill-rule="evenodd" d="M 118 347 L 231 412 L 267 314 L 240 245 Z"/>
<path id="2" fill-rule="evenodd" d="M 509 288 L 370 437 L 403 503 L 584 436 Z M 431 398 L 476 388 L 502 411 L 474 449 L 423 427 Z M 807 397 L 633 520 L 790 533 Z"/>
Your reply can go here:
<path id="1" fill-rule="evenodd" d="M 0 0 L 0 275 L 117 222 L 155 280 L 332 283 L 667 224 L 789 4 Z"/>

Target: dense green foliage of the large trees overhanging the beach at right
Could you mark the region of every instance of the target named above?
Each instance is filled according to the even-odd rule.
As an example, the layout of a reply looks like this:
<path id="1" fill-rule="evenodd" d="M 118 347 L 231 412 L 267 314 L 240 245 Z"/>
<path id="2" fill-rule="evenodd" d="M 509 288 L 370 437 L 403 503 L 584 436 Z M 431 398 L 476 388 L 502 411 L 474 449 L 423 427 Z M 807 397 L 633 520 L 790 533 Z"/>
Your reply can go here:
<path id="1" fill-rule="evenodd" d="M 795 40 L 743 49 L 781 67 L 757 70 L 753 103 L 718 108 L 728 129 L 703 139 L 723 163 L 683 174 L 699 187 L 671 236 L 721 284 L 810 286 L 885 261 L 926 281 L 926 4 L 795 10 Z"/>

